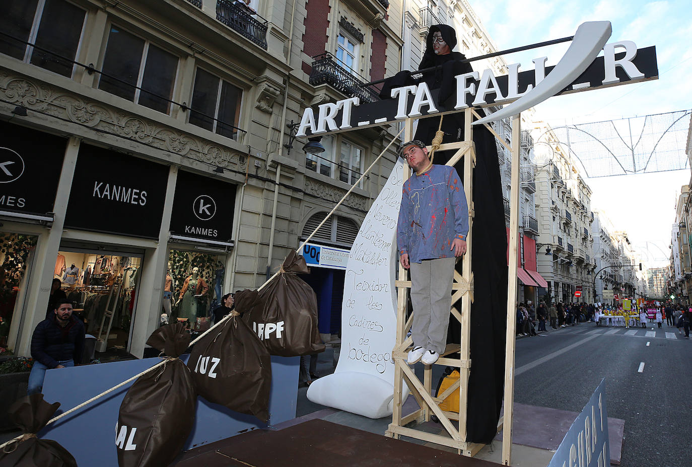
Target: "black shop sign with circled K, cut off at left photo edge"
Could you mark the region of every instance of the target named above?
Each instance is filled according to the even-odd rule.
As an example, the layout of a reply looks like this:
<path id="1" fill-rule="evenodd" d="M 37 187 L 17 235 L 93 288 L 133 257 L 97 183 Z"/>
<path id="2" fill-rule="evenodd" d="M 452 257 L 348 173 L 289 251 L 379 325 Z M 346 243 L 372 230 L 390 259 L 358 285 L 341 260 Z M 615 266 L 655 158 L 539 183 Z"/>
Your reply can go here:
<path id="1" fill-rule="evenodd" d="M 0 122 L 0 211 L 53 212 L 67 140 Z"/>

